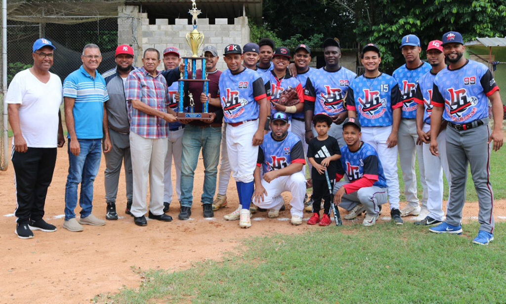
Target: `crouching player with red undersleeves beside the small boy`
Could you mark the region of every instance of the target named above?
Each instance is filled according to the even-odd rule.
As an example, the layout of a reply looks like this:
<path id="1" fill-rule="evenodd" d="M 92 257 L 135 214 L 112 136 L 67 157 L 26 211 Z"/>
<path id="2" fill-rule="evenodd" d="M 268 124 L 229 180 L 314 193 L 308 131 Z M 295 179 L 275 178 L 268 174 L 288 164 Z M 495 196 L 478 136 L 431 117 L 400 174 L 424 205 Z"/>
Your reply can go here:
<path id="1" fill-rule="evenodd" d="M 343 123 L 343 138 L 346 146 L 341 148 L 341 164 L 345 172 L 336 174 L 334 203 L 351 210 L 362 206 L 366 215 L 362 225 L 376 223 L 381 204 L 387 202 L 387 182 L 376 150 L 360 141 L 360 123 L 355 117 Z M 346 174 L 350 182 L 338 182 Z M 346 218 L 345 218 L 346 219 Z"/>

